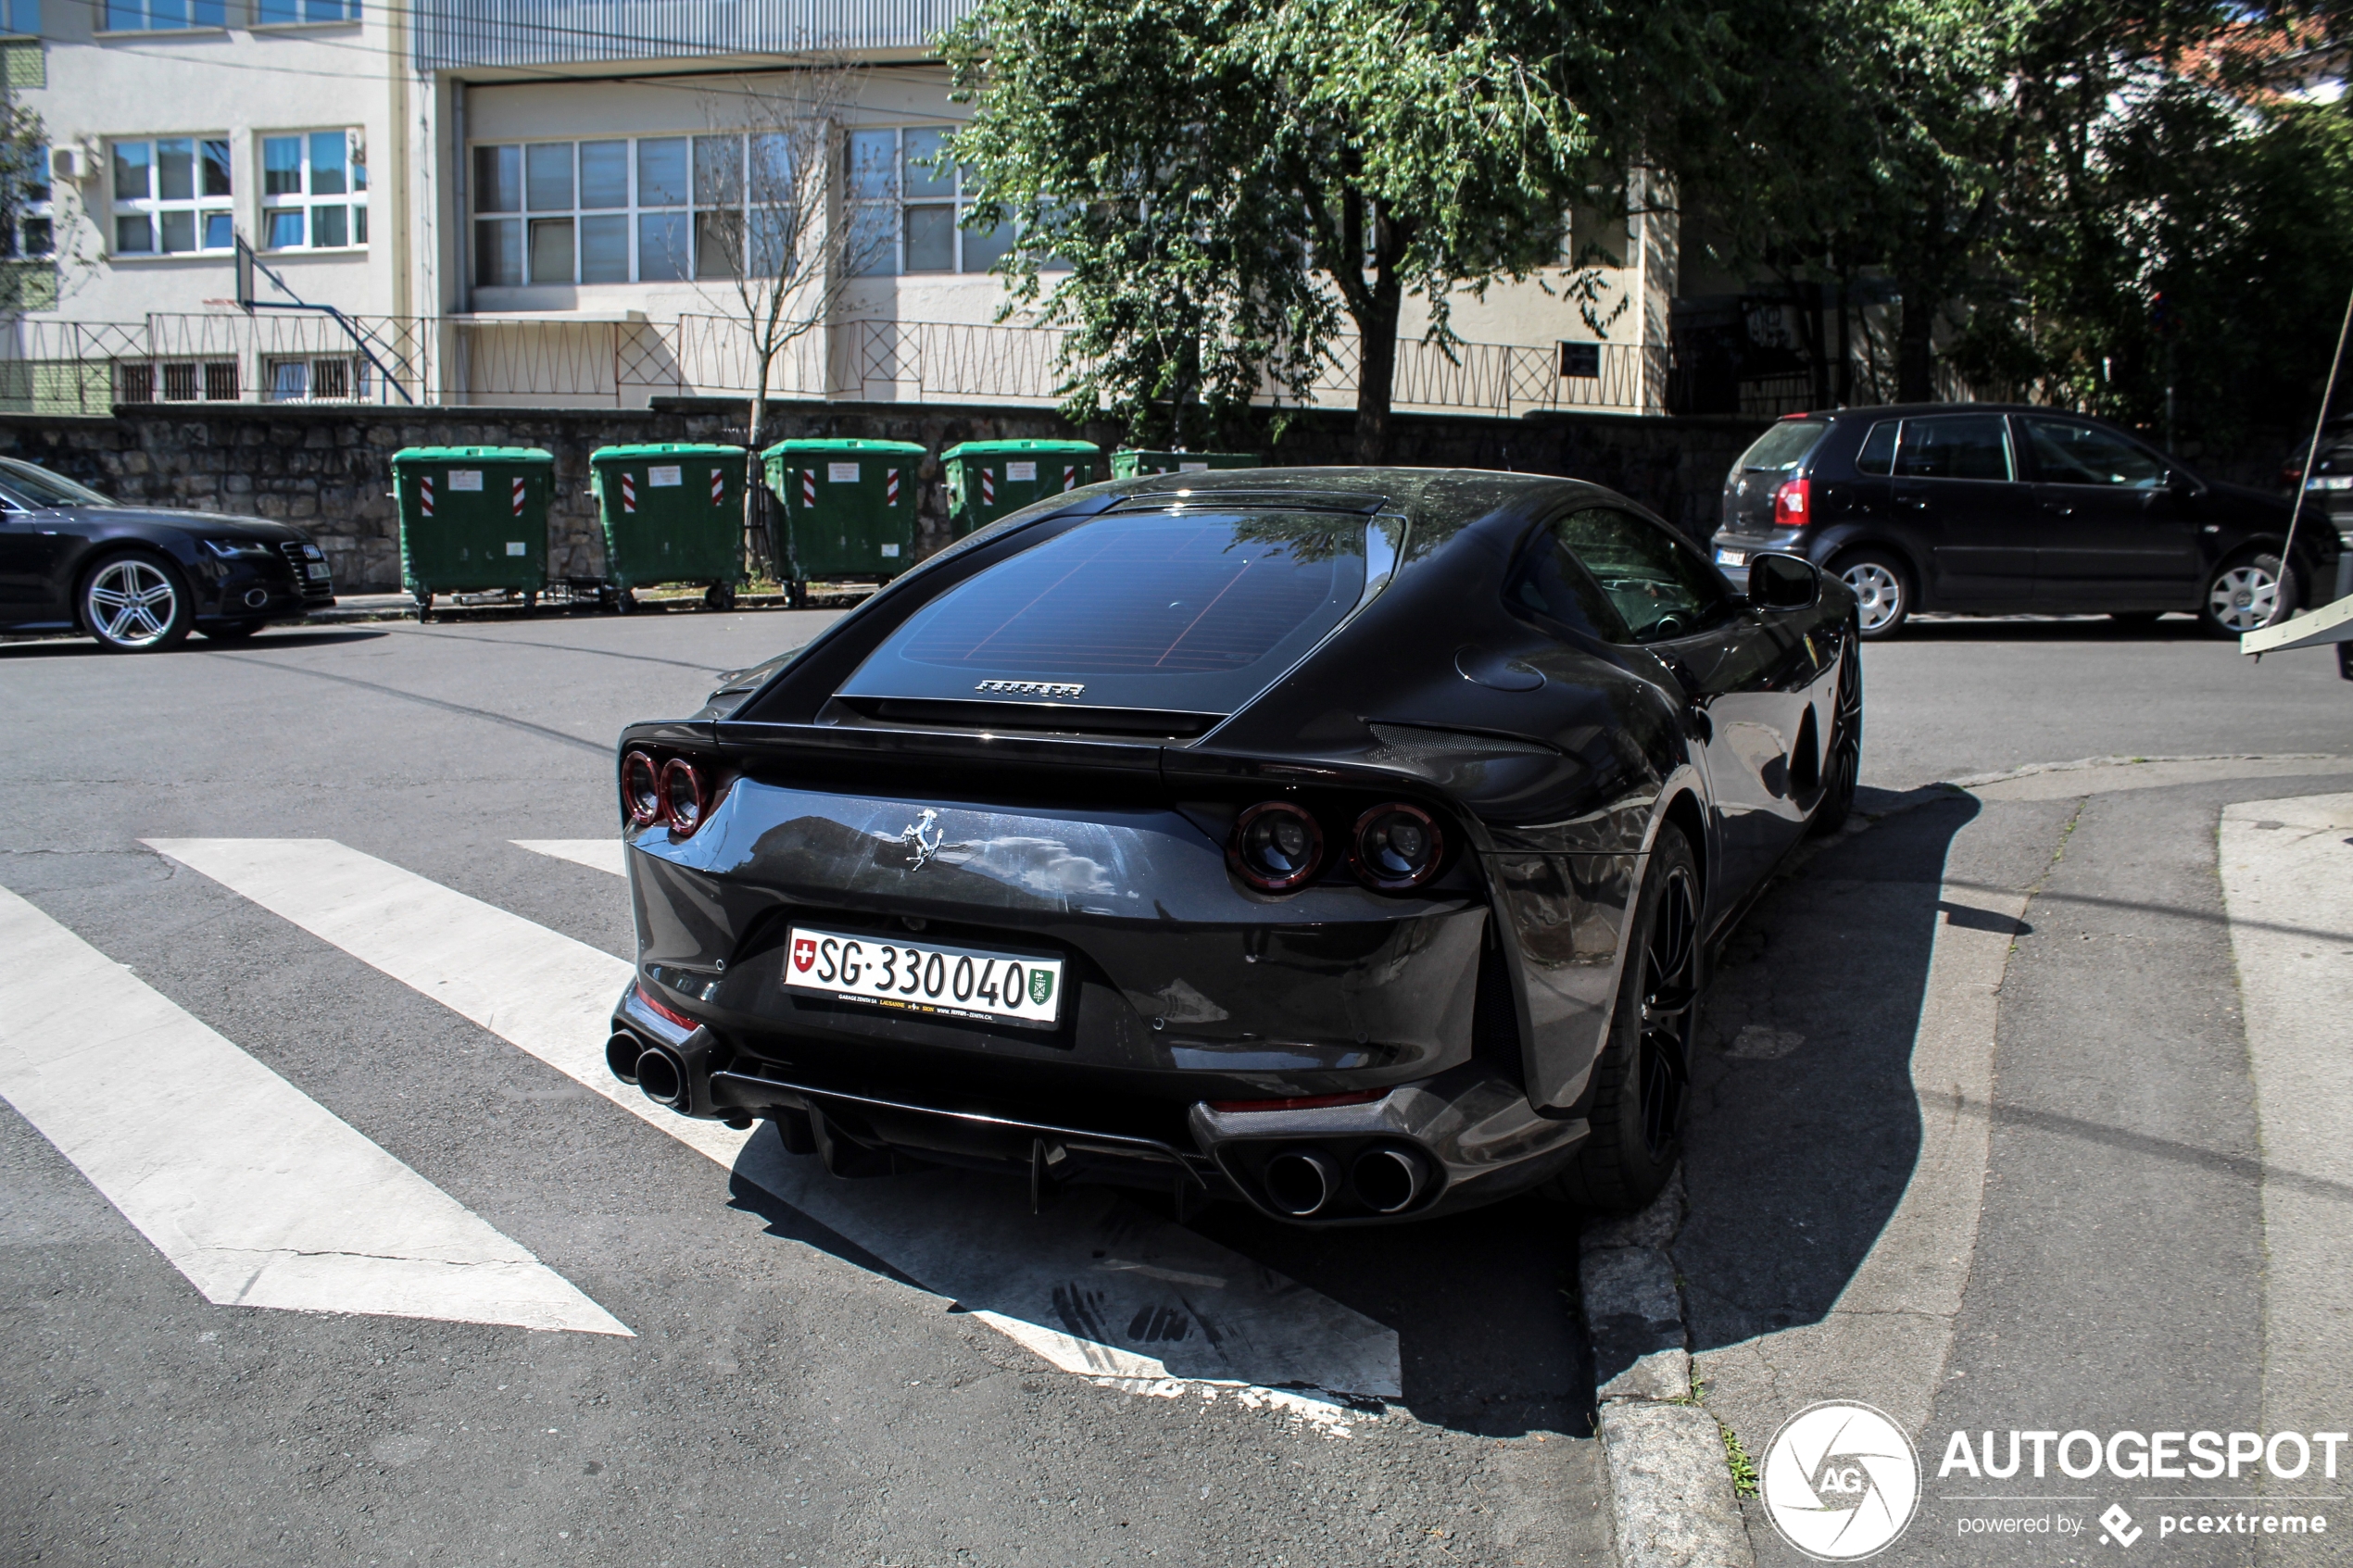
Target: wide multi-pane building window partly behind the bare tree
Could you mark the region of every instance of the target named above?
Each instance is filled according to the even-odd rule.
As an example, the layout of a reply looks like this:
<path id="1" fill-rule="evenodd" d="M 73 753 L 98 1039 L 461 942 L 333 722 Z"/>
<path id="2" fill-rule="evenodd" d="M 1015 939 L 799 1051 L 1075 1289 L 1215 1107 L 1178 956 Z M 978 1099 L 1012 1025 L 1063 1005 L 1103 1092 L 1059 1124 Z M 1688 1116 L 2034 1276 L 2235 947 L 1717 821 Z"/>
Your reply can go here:
<path id="1" fill-rule="evenodd" d="M 791 195 L 784 136 L 642 136 L 473 148 L 478 289 L 734 277 L 784 266 L 784 223 L 746 202 Z"/>

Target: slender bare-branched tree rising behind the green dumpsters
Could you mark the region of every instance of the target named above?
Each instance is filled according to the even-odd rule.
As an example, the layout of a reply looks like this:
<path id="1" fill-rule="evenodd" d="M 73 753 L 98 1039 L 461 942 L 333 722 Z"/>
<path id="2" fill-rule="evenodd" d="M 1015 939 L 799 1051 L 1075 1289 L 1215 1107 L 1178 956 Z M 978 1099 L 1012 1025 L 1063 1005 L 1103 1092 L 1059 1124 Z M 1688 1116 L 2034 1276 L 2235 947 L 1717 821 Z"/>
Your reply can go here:
<path id="1" fill-rule="evenodd" d="M 680 270 L 692 259 L 701 296 L 734 322 L 748 350 L 753 463 L 776 362 L 831 322 L 856 275 L 894 244 L 889 230 L 828 200 L 840 120 L 861 80 L 856 66 L 819 61 L 781 78 L 744 78 L 704 103 L 715 134 L 694 139 L 694 233 L 692 242 L 685 230 L 673 235 L 671 249 Z M 774 562 L 762 496 L 758 480 L 744 487 L 744 538 Z"/>

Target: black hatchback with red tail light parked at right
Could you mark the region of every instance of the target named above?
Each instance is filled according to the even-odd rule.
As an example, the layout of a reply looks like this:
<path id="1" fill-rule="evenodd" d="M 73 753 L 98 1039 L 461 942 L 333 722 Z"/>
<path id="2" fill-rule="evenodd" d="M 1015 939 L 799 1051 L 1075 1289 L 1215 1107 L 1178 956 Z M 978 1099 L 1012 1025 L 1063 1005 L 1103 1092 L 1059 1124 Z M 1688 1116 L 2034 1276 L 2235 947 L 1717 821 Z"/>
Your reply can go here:
<path id="1" fill-rule="evenodd" d="M 1786 550 L 1847 583 L 1864 637 L 1915 611 L 2200 616 L 2238 637 L 2334 595 L 2337 534 L 2080 414 L 1911 404 L 1791 414 L 1725 475 L 1715 564 Z"/>

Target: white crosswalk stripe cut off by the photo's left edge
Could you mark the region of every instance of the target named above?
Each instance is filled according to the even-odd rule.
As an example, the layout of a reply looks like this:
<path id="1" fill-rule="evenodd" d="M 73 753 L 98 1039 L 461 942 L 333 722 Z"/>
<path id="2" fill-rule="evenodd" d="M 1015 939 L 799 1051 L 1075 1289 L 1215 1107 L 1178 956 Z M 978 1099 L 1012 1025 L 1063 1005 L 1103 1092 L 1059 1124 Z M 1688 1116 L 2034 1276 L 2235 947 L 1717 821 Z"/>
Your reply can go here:
<path id="1" fill-rule="evenodd" d="M 525 1246 L 0 889 L 0 1095 L 205 1293 L 626 1335 Z"/>

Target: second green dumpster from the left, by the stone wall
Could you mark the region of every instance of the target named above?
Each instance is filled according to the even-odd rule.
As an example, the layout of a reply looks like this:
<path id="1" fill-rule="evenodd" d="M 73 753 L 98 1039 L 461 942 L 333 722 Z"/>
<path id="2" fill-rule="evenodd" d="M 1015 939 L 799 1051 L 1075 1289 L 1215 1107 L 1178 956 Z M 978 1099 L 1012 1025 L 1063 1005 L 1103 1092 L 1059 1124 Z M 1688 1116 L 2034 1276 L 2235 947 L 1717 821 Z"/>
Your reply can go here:
<path id="1" fill-rule="evenodd" d="M 649 583 L 704 583 L 704 604 L 734 604 L 744 578 L 741 447 L 598 447 L 588 489 L 605 524 L 607 604 L 628 614 L 633 590 Z"/>

